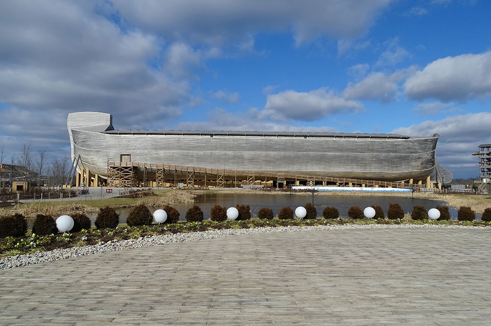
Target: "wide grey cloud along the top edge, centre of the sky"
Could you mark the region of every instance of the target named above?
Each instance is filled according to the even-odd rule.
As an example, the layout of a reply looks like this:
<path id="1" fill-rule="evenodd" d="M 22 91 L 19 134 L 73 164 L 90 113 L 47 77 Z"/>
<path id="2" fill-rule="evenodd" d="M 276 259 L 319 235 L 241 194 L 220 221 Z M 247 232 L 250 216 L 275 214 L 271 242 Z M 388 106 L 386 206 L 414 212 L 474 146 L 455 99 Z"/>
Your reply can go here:
<path id="1" fill-rule="evenodd" d="M 113 0 L 133 25 L 167 39 L 242 42 L 259 30 L 293 30 L 297 44 L 318 36 L 358 37 L 391 0 Z"/>

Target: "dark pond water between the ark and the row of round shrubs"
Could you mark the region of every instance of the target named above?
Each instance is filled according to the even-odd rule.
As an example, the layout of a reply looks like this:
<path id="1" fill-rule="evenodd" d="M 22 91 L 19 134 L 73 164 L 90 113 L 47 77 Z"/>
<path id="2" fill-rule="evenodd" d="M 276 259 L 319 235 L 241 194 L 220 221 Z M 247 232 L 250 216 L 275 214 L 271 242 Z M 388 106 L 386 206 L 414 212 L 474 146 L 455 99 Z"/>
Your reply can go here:
<path id="1" fill-rule="evenodd" d="M 213 192 L 205 193 L 203 195 L 198 195 L 194 199 L 194 204 L 198 205 L 204 213 L 204 218 L 210 218 L 210 210 L 215 205 L 218 204 L 224 207 L 232 207 L 237 204 L 249 205 L 251 208 L 251 214 L 253 217 L 257 217 L 257 212 L 262 207 L 268 207 L 273 210 L 273 214 L 278 214 L 282 207 L 290 206 L 295 210 L 298 206 L 303 206 L 307 202 L 312 202 L 311 196 L 308 194 L 289 194 L 289 193 L 275 193 L 275 194 L 245 194 L 245 193 L 225 193 L 225 192 Z M 317 215 L 322 216 L 322 211 L 326 206 L 336 207 L 339 210 L 339 215 L 347 217 L 348 209 L 351 206 L 359 206 L 364 209 L 367 206 L 380 205 L 382 206 L 385 214 L 387 213 L 387 208 L 389 203 L 397 202 L 401 205 L 402 209 L 410 213 L 415 205 L 421 205 L 426 207 L 426 209 L 434 208 L 436 205 L 444 205 L 442 201 L 433 201 L 428 199 L 411 199 L 408 197 L 396 197 L 396 196 L 345 196 L 345 195 L 319 195 L 314 198 L 314 206 L 317 208 Z M 186 211 L 193 204 L 183 204 L 183 205 L 173 205 L 179 213 L 180 220 L 186 220 Z M 158 208 L 162 207 L 151 207 L 150 211 L 153 212 Z M 132 208 L 124 208 L 118 210 L 120 214 L 120 223 L 125 223 L 126 218 Z M 457 218 L 457 210 L 455 208 L 449 207 L 450 215 L 452 219 Z M 96 215 L 90 216 L 94 221 Z"/>

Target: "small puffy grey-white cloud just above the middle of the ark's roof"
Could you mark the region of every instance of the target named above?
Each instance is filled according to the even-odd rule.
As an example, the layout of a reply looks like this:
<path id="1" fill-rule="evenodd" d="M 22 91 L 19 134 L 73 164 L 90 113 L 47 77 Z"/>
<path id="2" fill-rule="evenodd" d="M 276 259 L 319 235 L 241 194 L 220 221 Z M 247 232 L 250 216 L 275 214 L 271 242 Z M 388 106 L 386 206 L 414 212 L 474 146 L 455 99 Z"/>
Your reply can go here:
<path id="1" fill-rule="evenodd" d="M 301 120 L 314 121 L 336 113 L 354 113 L 363 111 L 361 103 L 346 100 L 333 91 L 319 88 L 310 92 L 288 90 L 268 95 L 262 110 L 250 112 L 260 120 L 273 121 Z"/>

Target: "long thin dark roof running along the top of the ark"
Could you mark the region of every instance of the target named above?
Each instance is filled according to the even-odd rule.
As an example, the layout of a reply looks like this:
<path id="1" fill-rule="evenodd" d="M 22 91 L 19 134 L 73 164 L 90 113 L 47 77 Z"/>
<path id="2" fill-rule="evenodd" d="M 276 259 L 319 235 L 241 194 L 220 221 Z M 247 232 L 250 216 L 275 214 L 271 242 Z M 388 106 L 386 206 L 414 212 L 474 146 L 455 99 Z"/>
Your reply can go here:
<path id="1" fill-rule="evenodd" d="M 391 138 L 409 139 L 409 136 L 390 133 L 344 133 L 344 132 L 285 132 L 285 131 L 199 131 L 199 130 L 107 130 L 116 135 L 199 135 L 199 136 L 263 136 L 263 137 L 331 137 L 331 138 Z"/>

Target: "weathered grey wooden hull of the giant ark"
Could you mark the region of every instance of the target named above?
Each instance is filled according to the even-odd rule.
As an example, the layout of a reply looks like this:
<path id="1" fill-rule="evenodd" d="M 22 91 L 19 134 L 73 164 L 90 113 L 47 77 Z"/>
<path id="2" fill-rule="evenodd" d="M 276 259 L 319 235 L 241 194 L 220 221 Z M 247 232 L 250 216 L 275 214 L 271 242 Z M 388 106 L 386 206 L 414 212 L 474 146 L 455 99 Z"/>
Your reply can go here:
<path id="1" fill-rule="evenodd" d="M 131 155 L 126 157 L 141 163 L 418 181 L 434 172 L 438 140 L 438 135 L 114 130 L 109 114 L 92 112 L 71 113 L 68 126 L 73 157 L 80 155 L 100 176 L 107 176 L 108 159 Z"/>

